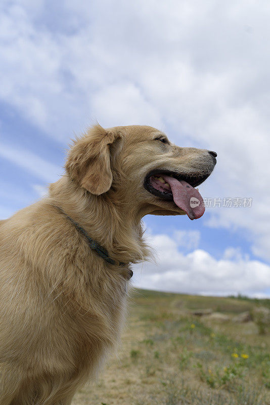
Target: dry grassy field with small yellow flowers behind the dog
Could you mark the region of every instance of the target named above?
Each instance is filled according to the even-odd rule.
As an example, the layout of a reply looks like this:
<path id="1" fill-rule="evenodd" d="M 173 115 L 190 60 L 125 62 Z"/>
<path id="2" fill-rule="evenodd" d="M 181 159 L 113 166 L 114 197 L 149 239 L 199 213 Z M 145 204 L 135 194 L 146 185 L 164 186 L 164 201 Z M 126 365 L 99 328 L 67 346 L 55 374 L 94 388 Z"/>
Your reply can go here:
<path id="1" fill-rule="evenodd" d="M 72 405 L 270 404 L 270 330 L 233 321 L 270 300 L 134 290 L 129 301 L 117 358 Z"/>

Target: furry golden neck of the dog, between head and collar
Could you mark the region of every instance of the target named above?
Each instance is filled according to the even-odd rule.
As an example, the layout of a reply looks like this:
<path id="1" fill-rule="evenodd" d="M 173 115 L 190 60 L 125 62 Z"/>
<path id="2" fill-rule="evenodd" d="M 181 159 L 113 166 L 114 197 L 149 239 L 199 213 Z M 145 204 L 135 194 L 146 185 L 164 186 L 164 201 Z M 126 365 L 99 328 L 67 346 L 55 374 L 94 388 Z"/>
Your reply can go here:
<path id="1" fill-rule="evenodd" d="M 110 195 L 93 195 L 63 176 L 51 184 L 49 203 L 64 210 L 105 247 L 112 258 L 136 263 L 151 255 L 143 239 L 141 219 L 145 213 L 132 212 L 114 191 Z"/>

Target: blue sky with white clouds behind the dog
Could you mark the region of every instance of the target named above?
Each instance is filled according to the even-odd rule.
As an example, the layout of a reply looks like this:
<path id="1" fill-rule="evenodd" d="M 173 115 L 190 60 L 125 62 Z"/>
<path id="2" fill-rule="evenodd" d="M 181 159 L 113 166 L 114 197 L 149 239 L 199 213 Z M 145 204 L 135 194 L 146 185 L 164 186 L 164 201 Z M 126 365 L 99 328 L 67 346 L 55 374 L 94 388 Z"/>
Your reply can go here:
<path id="1" fill-rule="evenodd" d="M 269 19 L 267 0 L 3 0 L 0 218 L 40 198 L 95 120 L 151 125 L 218 164 L 201 219 L 145 218 L 157 264 L 136 285 L 270 297 Z"/>

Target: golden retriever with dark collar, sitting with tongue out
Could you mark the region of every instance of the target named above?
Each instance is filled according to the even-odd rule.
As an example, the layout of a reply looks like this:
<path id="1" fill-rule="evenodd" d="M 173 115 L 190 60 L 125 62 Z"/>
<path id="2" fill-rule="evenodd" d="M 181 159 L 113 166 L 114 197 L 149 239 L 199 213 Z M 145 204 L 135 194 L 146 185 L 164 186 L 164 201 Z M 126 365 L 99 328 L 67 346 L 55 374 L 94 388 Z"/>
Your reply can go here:
<path id="1" fill-rule="evenodd" d="M 90 128 L 49 194 L 0 222 L 0 403 L 69 405 L 118 344 L 147 214 L 203 215 L 216 153 L 155 128 Z"/>

